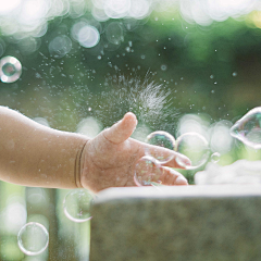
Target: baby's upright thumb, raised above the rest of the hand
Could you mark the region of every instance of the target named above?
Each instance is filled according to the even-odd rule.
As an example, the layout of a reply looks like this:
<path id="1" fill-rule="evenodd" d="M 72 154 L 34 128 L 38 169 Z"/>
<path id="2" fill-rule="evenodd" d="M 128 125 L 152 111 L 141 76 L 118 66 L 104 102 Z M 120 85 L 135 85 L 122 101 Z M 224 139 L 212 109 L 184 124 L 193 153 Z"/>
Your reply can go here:
<path id="1" fill-rule="evenodd" d="M 120 122 L 104 130 L 104 137 L 112 144 L 121 144 L 130 137 L 136 126 L 135 114 L 127 112 Z"/>

